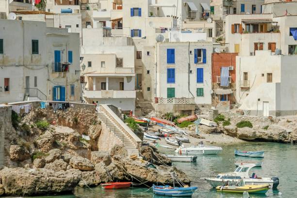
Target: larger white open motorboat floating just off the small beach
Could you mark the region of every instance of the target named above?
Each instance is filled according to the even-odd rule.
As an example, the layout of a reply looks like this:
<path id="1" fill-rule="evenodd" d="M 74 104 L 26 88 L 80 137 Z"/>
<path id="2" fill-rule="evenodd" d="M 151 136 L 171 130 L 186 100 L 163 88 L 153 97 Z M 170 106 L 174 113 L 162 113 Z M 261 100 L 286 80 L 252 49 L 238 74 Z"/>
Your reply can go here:
<path id="1" fill-rule="evenodd" d="M 175 152 L 187 155 L 216 155 L 220 153 L 222 150 L 223 149 L 218 146 L 198 144 L 198 146 L 191 145 L 184 147 L 184 145 L 182 144 L 179 148 L 175 150 Z"/>

